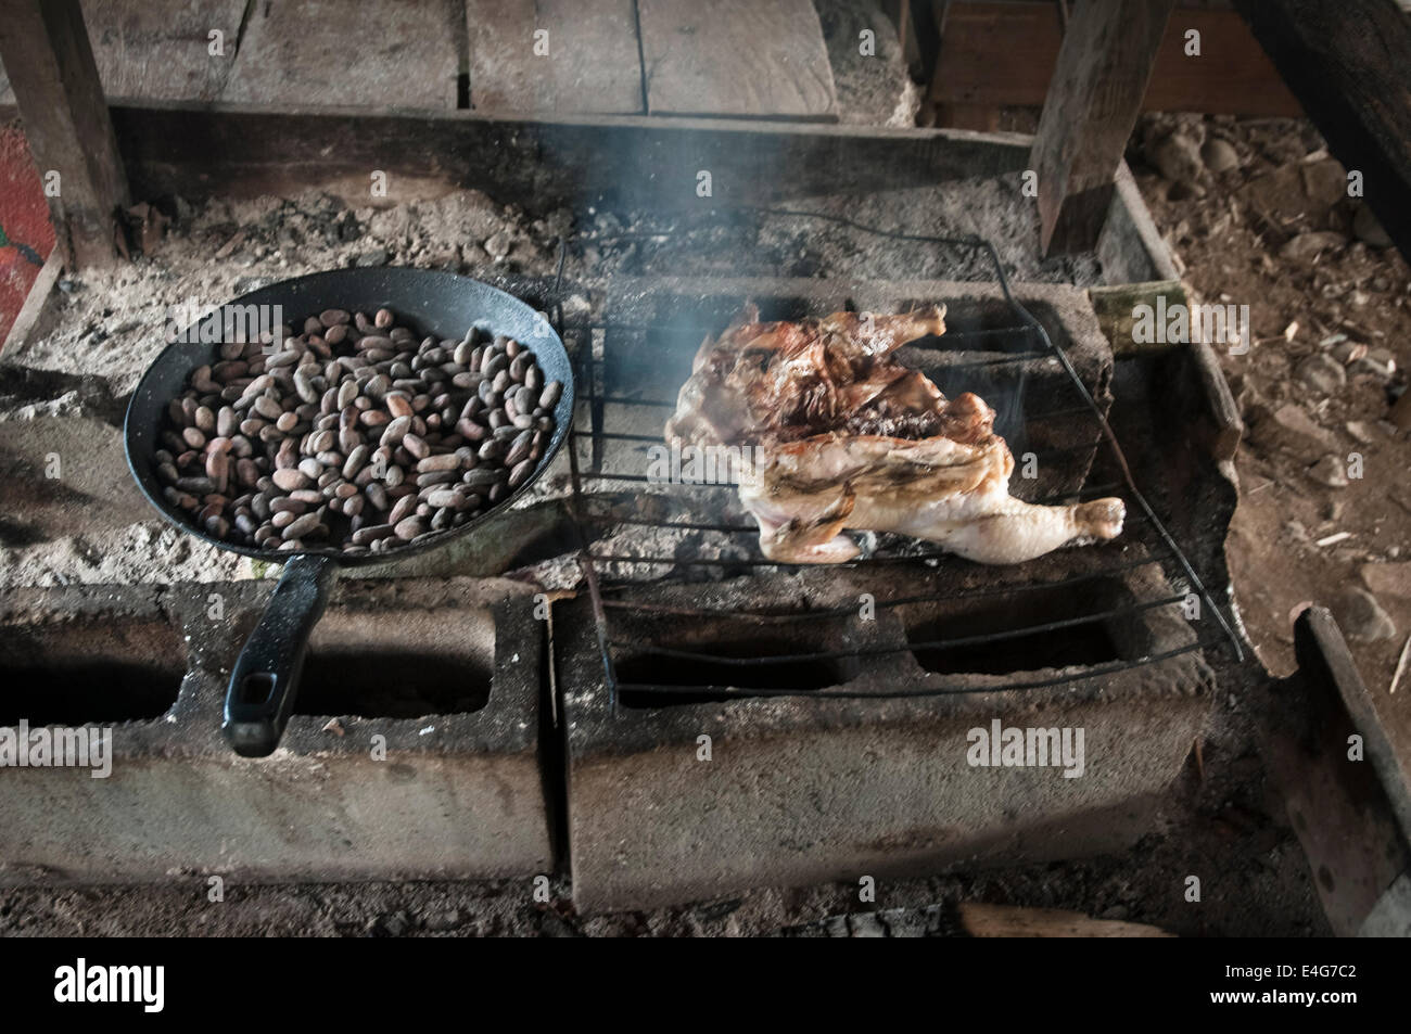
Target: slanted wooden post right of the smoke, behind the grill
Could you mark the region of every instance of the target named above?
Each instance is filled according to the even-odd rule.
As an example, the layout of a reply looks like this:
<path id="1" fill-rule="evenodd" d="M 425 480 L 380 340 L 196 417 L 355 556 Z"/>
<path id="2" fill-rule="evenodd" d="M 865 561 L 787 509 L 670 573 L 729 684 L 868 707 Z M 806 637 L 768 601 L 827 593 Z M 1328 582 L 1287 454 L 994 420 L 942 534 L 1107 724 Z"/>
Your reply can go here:
<path id="1" fill-rule="evenodd" d="M 1046 255 L 1096 245 L 1113 174 L 1175 0 L 1078 0 L 1054 69 L 1030 168 Z"/>

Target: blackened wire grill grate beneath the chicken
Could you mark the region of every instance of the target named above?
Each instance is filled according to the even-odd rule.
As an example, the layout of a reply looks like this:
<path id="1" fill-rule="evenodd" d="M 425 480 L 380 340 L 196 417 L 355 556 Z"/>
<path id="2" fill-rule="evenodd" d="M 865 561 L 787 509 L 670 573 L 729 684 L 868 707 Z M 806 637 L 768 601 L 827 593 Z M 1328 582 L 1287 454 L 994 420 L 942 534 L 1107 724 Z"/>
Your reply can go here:
<path id="1" fill-rule="evenodd" d="M 1109 618 L 1118 618 L 1125 615 L 1137 614 L 1144 609 L 1153 609 L 1157 607 L 1173 607 L 1185 600 L 1185 594 L 1175 594 L 1171 597 L 1164 597 L 1158 600 L 1144 600 L 1134 601 L 1122 607 L 1110 608 L 1096 614 L 1085 614 L 1077 618 L 1065 618 L 1060 621 L 1040 622 L 1037 625 L 1029 625 L 1023 628 L 1006 628 L 998 632 L 968 635 L 951 639 L 933 639 L 909 642 L 899 646 L 886 647 L 864 647 L 856 650 L 810 650 L 800 653 L 783 653 L 770 655 L 761 657 L 724 657 L 715 656 L 697 650 L 682 650 L 658 646 L 650 642 L 642 642 L 632 638 L 624 638 L 614 632 L 614 626 L 610 619 L 610 614 L 615 615 L 631 615 L 631 614 L 656 614 L 656 615 L 672 615 L 680 618 L 701 618 L 701 619 L 738 619 L 763 624 L 785 624 L 785 622 L 801 622 L 801 621 L 818 621 L 820 618 L 845 618 L 856 614 L 856 607 L 838 607 L 838 608 L 799 608 L 792 611 L 755 611 L 755 609 L 725 609 L 725 608 L 710 608 L 710 607 L 665 607 L 650 602 L 639 602 L 632 600 L 617 598 L 615 595 L 624 590 L 639 587 L 641 581 L 612 581 L 611 577 L 600 566 L 614 564 L 614 563 L 629 563 L 638 566 L 660 566 L 667 568 L 779 568 L 779 570 L 797 570 L 804 567 L 813 567 L 811 564 L 792 564 L 785 561 L 768 560 L 762 556 L 755 557 L 729 557 L 729 559 L 710 559 L 710 557 L 677 557 L 677 556 L 652 556 L 652 554 L 624 554 L 624 553 L 602 553 L 594 552 L 594 545 L 598 542 L 598 536 L 594 535 L 595 530 L 604 529 L 607 526 L 621 526 L 621 525 L 638 525 L 658 529 L 679 529 L 679 530 L 697 530 L 697 532 L 713 532 L 731 536 L 755 535 L 758 528 L 748 523 L 721 523 L 713 521 L 652 521 L 632 516 L 619 516 L 612 513 L 598 512 L 595 506 L 595 498 L 587 489 L 588 484 L 601 487 L 607 482 L 622 482 L 628 485 L 646 484 L 650 478 L 646 474 L 632 474 L 624 471 L 604 471 L 602 460 L 605 454 L 605 444 L 608 442 L 635 442 L 643 444 L 660 444 L 662 439 L 658 436 L 629 433 L 621 430 L 611 430 L 607 425 L 607 406 L 621 405 L 621 406 L 650 406 L 663 410 L 665 415 L 676 408 L 674 401 L 666 399 L 641 399 L 628 398 L 622 395 L 611 394 L 607 379 L 607 348 L 608 343 L 612 341 L 619 334 L 636 333 L 636 334 L 682 334 L 684 332 L 696 332 L 700 337 L 707 334 L 715 334 L 720 332 L 718 326 L 710 326 L 706 323 L 700 324 L 665 324 L 653 322 L 614 322 L 604 319 L 588 319 L 580 320 L 577 323 L 569 324 L 563 315 L 563 264 L 566 258 L 566 241 L 560 241 L 557 274 L 555 278 L 553 288 L 553 309 L 552 319 L 560 334 L 573 334 L 577 337 L 577 361 L 579 361 L 579 405 L 581 409 L 587 410 L 588 430 L 579 429 L 579 419 L 576 415 L 574 427 L 570 432 L 569 440 L 569 464 L 570 464 L 570 484 L 571 497 L 569 499 L 569 511 L 573 518 L 574 533 L 579 543 L 579 563 L 583 570 L 584 581 L 588 588 L 588 595 L 593 605 L 593 616 L 595 624 L 595 632 L 598 638 L 598 646 L 601 652 L 605 684 L 611 697 L 614 711 L 618 707 L 618 700 L 624 691 L 634 693 L 650 693 L 660 695 L 690 695 L 700 697 L 701 694 L 715 694 L 721 697 L 785 697 L 785 695 L 799 695 L 807 697 L 810 700 L 873 700 L 873 698 L 896 698 L 896 697 L 937 697 L 945 694 L 967 694 L 967 693 L 1006 693 L 1006 691 L 1026 691 L 1037 688 L 1048 688 L 1054 686 L 1062 686 L 1072 681 L 1086 680 L 1092 677 L 1101 677 L 1105 674 L 1126 671 L 1132 669 L 1139 669 L 1147 664 L 1160 663 L 1175 656 L 1191 653 L 1195 650 L 1206 649 L 1229 649 L 1236 660 L 1243 660 L 1245 653 L 1239 642 L 1230 621 L 1226 618 L 1221 607 L 1216 604 L 1215 598 L 1211 595 L 1205 583 L 1197 574 L 1194 566 L 1191 564 L 1187 554 L 1181 550 L 1180 545 L 1167 530 L 1165 525 L 1157 516 L 1156 511 L 1151 508 L 1146 497 L 1137 489 L 1134 478 L 1132 475 L 1130 466 L 1127 464 L 1126 456 L 1122 451 L 1122 446 L 1118 442 L 1112 426 L 1108 422 L 1106 415 L 1102 408 L 1092 398 L 1088 387 L 1082 382 L 1072 363 L 1064 350 L 1055 344 L 1043 324 L 1037 317 L 1033 316 L 1013 295 L 1009 286 L 1009 279 L 1005 274 L 1003 264 L 999 258 L 998 251 L 993 244 L 988 240 L 979 237 L 938 237 L 926 234 L 910 234 L 885 230 L 879 227 L 864 226 L 844 216 L 835 216 L 831 213 L 821 212 L 799 212 L 792 209 L 768 209 L 758 206 L 735 206 L 735 210 L 758 212 L 763 214 L 783 216 L 783 217 L 809 217 L 809 219 L 823 219 L 834 223 L 841 223 L 851 226 L 856 230 L 875 234 L 890 240 L 906 240 L 906 241 L 920 241 L 926 244 L 933 244 L 937 247 L 952 247 L 952 248 L 967 248 L 982 253 L 989 265 L 993 268 L 993 282 L 999 285 L 1005 303 L 1009 306 L 1010 313 L 1015 316 L 1015 323 L 1010 326 L 996 327 L 996 329 L 981 329 L 981 330 L 964 330 L 964 332 L 947 332 L 945 340 L 955 341 L 961 339 L 982 339 L 986 343 L 993 343 L 999 339 L 1029 339 L 1037 343 L 1038 347 L 1027 350 L 1005 348 L 1007 353 L 1003 357 L 992 357 L 988 360 L 978 360 L 975 363 L 958 363 L 954 364 L 952 370 L 962 370 L 967 367 L 995 367 L 1005 365 L 1010 363 L 1019 363 L 1030 358 L 1038 357 L 1055 357 L 1062 365 L 1064 372 L 1071 382 L 1071 387 L 1078 392 L 1081 405 L 1043 410 L 1033 415 L 1026 415 L 1026 420 L 1038 419 L 1062 419 L 1075 418 L 1086 415 L 1088 418 L 1096 420 L 1098 430 L 1101 434 L 1099 446 L 1106 444 L 1108 453 L 1116 463 L 1120 480 L 1112 481 L 1101 485 L 1085 485 L 1078 492 L 1065 492 L 1061 495 L 1054 495 L 1043 499 L 1033 499 L 1038 504 L 1055 504 L 1055 502 L 1079 502 L 1089 498 L 1101 498 L 1109 492 L 1122 492 L 1129 501 L 1136 504 L 1136 509 L 1127 513 L 1127 526 L 1141 525 L 1147 529 L 1156 543 L 1160 546 L 1153 553 L 1136 557 L 1123 559 L 1115 563 L 1108 563 L 1099 570 L 1086 571 L 1082 574 L 1074 574 L 1058 580 L 1048 581 L 1022 581 L 1022 583 L 1007 583 L 999 581 L 996 584 L 981 585 L 975 588 L 967 588 L 955 591 L 952 587 L 924 594 L 910 594 L 892 598 L 878 598 L 876 609 L 888 609 L 904 607 L 909 604 L 926 604 L 926 602 L 955 602 L 968 601 L 979 598 L 993 598 L 993 597 L 1010 597 L 1016 594 L 1023 594 L 1029 591 L 1043 590 L 1062 590 L 1072 588 L 1075 585 L 1098 581 L 1102 578 L 1109 578 L 1113 574 L 1134 570 L 1139 567 L 1146 567 L 1156 564 L 1161 567 L 1163 573 L 1171 576 L 1184 576 L 1184 580 L 1191 587 L 1201 600 L 1202 612 L 1211 614 L 1218 625 L 1218 633 L 1215 636 L 1197 636 L 1195 640 L 1160 653 L 1151 653 L 1133 659 L 1120 659 L 1115 662 L 1098 663 L 1085 666 L 1081 670 L 1072 671 L 1070 674 L 1058 674 L 1051 679 L 1023 679 L 1024 673 L 1017 673 L 1019 679 L 1010 679 L 1002 684 L 950 684 L 950 686 L 926 686 L 926 687 L 907 687 L 895 691 L 851 691 L 845 686 L 837 688 L 769 688 L 769 687 L 749 687 L 749 688 L 732 688 L 725 686 L 672 686 L 672 684 L 650 684 L 650 683 L 632 683 L 619 681 L 617 676 L 617 660 L 614 657 L 614 650 L 631 649 L 639 655 L 655 655 L 663 657 L 672 657 L 682 662 L 710 662 L 711 664 L 722 664 L 729 667 L 761 667 L 761 666 L 780 666 L 780 664 L 797 664 L 820 660 L 834 660 L 834 659 L 858 659 L 866 656 L 885 656 L 895 653 L 904 653 L 912 649 L 945 649 L 955 646 L 982 646 L 982 645 L 1000 645 L 1005 640 L 1016 639 L 1026 635 L 1034 635 L 1040 632 L 1054 632 L 1071 628 L 1074 625 L 1095 622 Z M 650 234 L 652 237 L 660 237 L 660 234 Z M 624 238 L 629 238 L 631 234 L 622 234 Z M 601 339 L 602 350 L 601 355 L 594 355 L 594 343 Z M 601 388 L 600 388 L 601 384 Z M 590 464 L 584 468 L 583 461 L 579 454 L 579 443 L 587 442 L 590 446 Z M 1081 446 L 1079 449 L 1085 449 Z M 1062 451 L 1058 449 L 1046 450 L 1047 454 Z M 672 484 L 670 495 L 676 498 L 689 497 L 691 492 L 701 491 L 720 491 L 729 489 L 734 491 L 731 484 Z M 1126 532 L 1123 533 L 1126 536 Z M 1105 553 L 1103 545 L 1094 545 L 1084 547 L 1089 554 L 1099 556 Z M 756 549 L 758 553 L 758 549 Z M 837 568 L 883 568 L 888 564 L 916 564 L 927 566 L 938 560 L 950 559 L 954 560 L 952 554 L 944 550 L 920 550 L 909 552 L 904 554 L 885 554 L 876 553 L 872 556 L 859 557 L 856 560 L 844 564 L 830 564 L 830 567 Z M 697 584 L 698 581 L 691 581 L 687 578 L 658 578 L 649 583 L 653 587 L 662 585 L 684 585 Z M 710 583 L 706 583 L 707 585 Z M 618 622 L 621 624 L 621 621 Z"/>

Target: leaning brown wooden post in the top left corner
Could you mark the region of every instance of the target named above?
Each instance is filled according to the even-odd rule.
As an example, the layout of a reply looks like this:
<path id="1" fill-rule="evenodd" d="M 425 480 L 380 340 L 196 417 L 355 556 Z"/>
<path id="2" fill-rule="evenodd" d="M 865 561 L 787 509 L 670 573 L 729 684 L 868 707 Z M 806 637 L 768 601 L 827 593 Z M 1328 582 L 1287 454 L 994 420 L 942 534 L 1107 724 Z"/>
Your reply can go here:
<path id="1" fill-rule="evenodd" d="M 127 176 L 79 0 L 0 0 L 0 59 L 66 265 L 113 262 Z"/>

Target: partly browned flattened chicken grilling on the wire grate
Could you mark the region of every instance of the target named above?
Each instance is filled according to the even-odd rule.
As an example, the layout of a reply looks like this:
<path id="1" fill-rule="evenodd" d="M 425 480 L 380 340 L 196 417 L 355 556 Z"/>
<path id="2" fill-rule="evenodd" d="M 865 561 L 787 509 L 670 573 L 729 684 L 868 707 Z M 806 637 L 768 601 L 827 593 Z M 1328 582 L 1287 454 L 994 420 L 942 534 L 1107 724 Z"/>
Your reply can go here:
<path id="1" fill-rule="evenodd" d="M 969 392 L 947 401 L 890 358 L 944 330 L 941 308 L 800 323 L 759 323 L 749 308 L 701 344 L 667 442 L 756 447 L 739 498 L 770 560 L 851 560 L 859 549 L 844 529 L 912 535 L 989 564 L 1120 535 L 1120 499 L 1013 498 L 1015 460 L 993 432 L 995 410 Z"/>

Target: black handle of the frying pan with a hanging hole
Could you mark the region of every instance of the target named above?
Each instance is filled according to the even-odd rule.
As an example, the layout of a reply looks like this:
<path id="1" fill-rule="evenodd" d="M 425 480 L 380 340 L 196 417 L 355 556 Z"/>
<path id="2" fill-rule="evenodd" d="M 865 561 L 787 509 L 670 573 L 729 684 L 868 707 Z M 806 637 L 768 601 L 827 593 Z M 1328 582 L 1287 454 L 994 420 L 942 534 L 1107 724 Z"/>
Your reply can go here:
<path id="1" fill-rule="evenodd" d="M 317 556 L 296 556 L 284 566 L 230 673 L 220 728 L 236 753 L 265 758 L 279 745 L 299 690 L 309 633 L 329 600 L 333 570 L 329 557 Z"/>

